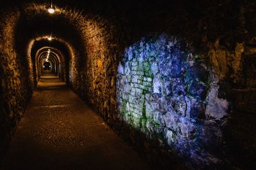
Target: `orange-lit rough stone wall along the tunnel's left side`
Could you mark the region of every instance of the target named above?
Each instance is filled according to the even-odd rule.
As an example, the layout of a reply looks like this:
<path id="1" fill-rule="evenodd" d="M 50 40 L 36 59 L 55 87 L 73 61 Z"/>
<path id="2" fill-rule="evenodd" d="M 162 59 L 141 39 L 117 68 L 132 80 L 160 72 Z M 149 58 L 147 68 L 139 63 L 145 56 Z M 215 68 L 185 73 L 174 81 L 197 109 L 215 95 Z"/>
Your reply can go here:
<path id="1" fill-rule="evenodd" d="M 1 11 L 0 25 L 0 154 L 8 145 L 17 122 L 31 97 L 32 82 L 28 80 L 31 70 L 28 60 L 15 49 L 15 27 L 20 13 Z"/>

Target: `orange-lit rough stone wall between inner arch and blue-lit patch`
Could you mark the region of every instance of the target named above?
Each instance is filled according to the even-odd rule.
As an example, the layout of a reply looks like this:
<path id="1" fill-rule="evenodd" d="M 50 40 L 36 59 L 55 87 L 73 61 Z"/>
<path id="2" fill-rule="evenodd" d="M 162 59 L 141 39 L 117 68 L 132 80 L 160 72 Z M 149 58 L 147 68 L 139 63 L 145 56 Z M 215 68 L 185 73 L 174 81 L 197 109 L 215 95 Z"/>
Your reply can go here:
<path id="1" fill-rule="evenodd" d="M 115 122 L 115 75 L 119 52 L 115 27 L 104 18 L 92 17 L 86 20 L 83 28 L 86 56 L 79 59 L 77 94 L 105 120 L 111 117 L 109 122 Z"/>

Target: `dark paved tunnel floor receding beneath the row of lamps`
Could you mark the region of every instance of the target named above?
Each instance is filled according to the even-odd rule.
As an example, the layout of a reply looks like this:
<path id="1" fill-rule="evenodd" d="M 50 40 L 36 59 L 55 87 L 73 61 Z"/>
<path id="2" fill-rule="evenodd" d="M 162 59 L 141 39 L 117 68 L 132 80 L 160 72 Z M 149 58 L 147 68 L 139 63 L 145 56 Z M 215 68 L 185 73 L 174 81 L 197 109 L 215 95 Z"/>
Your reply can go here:
<path id="1" fill-rule="evenodd" d="M 0 169 L 149 169 L 57 76 L 41 77 Z"/>

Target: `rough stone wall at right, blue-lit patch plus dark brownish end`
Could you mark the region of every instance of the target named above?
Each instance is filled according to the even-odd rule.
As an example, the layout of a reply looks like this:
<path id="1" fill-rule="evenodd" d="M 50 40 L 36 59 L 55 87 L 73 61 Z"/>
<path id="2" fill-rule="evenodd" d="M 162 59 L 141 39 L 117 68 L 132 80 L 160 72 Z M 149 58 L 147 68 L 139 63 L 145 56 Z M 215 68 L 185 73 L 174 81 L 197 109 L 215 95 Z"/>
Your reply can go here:
<path id="1" fill-rule="evenodd" d="M 116 81 L 120 121 L 157 139 L 159 150 L 168 145 L 191 167 L 250 167 L 255 48 L 246 54 L 244 43 L 230 50 L 219 39 L 207 47 L 202 53 L 184 39 L 156 34 L 126 48 Z M 237 150 L 245 166 L 237 165 Z"/>

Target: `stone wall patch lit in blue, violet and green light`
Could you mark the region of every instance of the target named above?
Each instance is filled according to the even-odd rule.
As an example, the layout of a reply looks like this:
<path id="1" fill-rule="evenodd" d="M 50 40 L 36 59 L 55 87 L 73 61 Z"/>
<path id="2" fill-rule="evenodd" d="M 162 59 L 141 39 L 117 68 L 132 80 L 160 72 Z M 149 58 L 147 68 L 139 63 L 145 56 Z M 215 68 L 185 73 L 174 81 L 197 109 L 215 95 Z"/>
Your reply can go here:
<path id="1" fill-rule="evenodd" d="M 124 122 L 196 164 L 220 161 L 228 109 L 206 58 L 181 39 L 147 36 L 125 49 L 116 83 Z"/>

